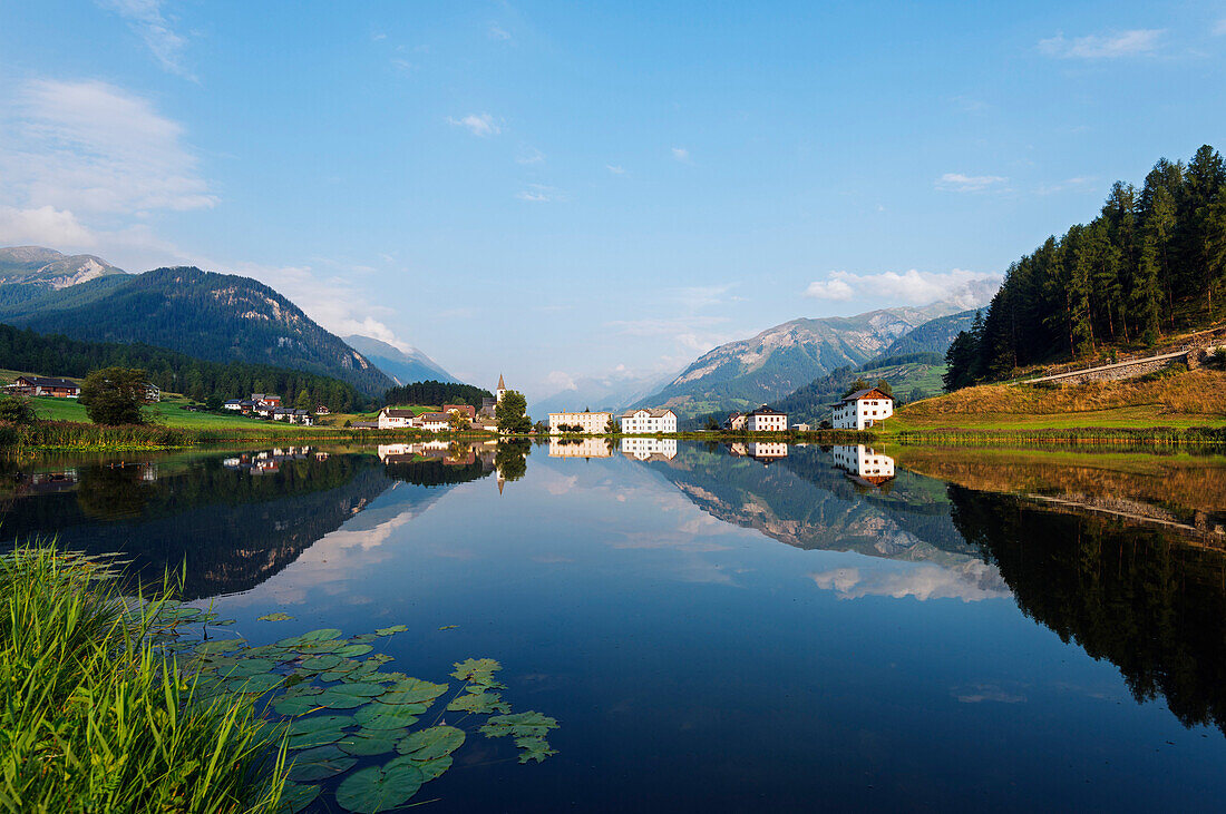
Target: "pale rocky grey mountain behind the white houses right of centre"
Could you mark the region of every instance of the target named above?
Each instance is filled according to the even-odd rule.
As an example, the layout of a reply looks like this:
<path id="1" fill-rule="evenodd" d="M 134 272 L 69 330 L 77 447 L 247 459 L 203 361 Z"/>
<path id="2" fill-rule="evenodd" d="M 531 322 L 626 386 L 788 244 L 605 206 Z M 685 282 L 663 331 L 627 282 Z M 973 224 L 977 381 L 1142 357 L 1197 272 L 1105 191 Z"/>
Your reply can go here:
<path id="1" fill-rule="evenodd" d="M 900 337 L 958 310 L 953 304 L 938 302 L 922 308 L 785 322 L 752 339 L 702 354 L 640 404 L 669 406 L 685 416 L 756 406 L 839 367 L 859 366 Z"/>

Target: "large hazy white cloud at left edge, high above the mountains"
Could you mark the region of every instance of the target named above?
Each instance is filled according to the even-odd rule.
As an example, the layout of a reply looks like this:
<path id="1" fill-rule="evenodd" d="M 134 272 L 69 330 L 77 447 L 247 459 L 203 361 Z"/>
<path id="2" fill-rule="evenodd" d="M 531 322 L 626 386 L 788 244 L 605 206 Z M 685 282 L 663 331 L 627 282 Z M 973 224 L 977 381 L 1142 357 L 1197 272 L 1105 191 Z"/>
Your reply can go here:
<path id="1" fill-rule="evenodd" d="M 105 82 L 34 80 L 0 98 L 0 198 L 136 214 L 217 203 L 183 126 Z"/>

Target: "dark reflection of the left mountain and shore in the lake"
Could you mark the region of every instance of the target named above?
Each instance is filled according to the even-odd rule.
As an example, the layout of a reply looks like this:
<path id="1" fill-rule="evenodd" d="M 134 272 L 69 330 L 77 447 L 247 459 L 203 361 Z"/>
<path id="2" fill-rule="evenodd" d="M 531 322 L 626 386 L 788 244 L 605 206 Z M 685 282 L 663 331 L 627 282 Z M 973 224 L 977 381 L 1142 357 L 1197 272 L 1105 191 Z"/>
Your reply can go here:
<path id="1" fill-rule="evenodd" d="M 371 454 L 288 447 L 4 469 L 9 547 L 55 537 L 69 550 L 118 552 L 147 583 L 185 566 L 183 595 L 200 599 L 262 583 L 397 481 L 449 487 L 490 474 L 494 463 L 492 450 L 383 464 Z M 401 490 L 396 499 L 430 503 L 440 493 Z"/>

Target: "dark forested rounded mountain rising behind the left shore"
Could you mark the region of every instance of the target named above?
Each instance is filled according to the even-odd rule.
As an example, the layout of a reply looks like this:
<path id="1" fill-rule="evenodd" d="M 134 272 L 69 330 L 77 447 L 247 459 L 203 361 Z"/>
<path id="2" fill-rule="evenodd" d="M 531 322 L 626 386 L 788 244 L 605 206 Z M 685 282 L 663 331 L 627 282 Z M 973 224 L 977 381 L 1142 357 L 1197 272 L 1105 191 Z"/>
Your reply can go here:
<path id="1" fill-rule="evenodd" d="M 246 277 L 199 268 L 104 274 L 6 300 L 0 322 L 74 339 L 145 343 L 208 361 L 292 367 L 383 395 L 395 382 L 275 290 Z"/>

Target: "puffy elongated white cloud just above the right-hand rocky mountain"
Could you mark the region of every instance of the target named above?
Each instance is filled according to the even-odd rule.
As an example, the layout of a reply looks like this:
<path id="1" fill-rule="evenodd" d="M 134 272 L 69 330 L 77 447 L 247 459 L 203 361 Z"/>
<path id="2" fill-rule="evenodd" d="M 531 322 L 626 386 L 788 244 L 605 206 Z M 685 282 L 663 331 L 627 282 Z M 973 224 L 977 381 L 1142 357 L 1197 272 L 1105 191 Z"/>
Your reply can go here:
<path id="1" fill-rule="evenodd" d="M 927 305 L 949 301 L 961 308 L 986 304 L 997 289 L 1000 277 L 955 268 L 949 272 L 880 272 L 852 274 L 831 272 L 829 279 L 814 280 L 804 296 L 817 300 L 881 300 L 895 305 Z"/>

